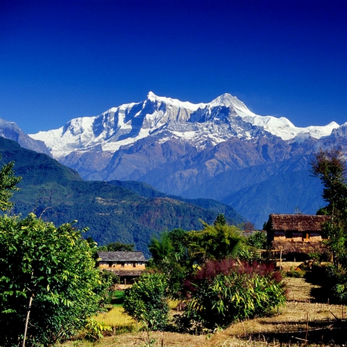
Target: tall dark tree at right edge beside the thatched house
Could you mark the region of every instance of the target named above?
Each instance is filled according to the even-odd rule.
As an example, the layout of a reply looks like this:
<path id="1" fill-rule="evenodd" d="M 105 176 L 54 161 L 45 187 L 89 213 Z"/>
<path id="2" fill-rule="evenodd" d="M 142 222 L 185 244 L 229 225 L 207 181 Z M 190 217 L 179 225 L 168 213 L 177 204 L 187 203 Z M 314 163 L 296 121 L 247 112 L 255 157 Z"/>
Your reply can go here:
<path id="1" fill-rule="evenodd" d="M 323 199 L 328 203 L 319 213 L 331 216 L 323 226 L 328 237 L 335 266 L 344 261 L 347 251 L 347 185 L 346 161 L 339 149 L 327 149 L 314 154 L 311 162 L 312 174 L 323 183 Z"/>

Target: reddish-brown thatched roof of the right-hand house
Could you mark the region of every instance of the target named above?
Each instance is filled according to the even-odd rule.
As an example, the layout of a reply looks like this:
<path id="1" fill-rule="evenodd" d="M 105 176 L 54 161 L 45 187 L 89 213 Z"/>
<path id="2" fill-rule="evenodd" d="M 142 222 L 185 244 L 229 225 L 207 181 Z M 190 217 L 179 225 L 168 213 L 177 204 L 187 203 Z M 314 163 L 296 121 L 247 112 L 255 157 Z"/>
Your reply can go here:
<path id="1" fill-rule="evenodd" d="M 312 214 L 270 214 L 266 229 L 273 231 L 321 232 L 322 223 L 330 220 L 330 216 Z"/>

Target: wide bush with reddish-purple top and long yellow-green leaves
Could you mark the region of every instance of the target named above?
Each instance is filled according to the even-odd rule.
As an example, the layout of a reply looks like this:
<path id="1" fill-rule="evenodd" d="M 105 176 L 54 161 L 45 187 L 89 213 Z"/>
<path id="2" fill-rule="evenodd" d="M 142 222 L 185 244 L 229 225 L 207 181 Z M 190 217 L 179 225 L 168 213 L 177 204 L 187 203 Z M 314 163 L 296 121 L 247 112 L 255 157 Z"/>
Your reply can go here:
<path id="1" fill-rule="evenodd" d="M 185 283 L 188 301 L 183 320 L 187 326 L 193 322 L 213 330 L 269 314 L 285 303 L 281 280 L 269 265 L 209 261 Z"/>

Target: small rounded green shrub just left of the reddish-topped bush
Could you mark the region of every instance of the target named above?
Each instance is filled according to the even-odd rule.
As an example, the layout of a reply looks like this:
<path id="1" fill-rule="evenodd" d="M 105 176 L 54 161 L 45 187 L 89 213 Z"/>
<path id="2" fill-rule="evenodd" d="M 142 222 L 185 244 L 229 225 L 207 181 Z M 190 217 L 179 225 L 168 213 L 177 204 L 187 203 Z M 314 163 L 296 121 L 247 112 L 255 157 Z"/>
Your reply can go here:
<path id="1" fill-rule="evenodd" d="M 169 319 L 167 278 L 144 273 L 124 294 L 124 311 L 151 330 L 163 330 Z"/>

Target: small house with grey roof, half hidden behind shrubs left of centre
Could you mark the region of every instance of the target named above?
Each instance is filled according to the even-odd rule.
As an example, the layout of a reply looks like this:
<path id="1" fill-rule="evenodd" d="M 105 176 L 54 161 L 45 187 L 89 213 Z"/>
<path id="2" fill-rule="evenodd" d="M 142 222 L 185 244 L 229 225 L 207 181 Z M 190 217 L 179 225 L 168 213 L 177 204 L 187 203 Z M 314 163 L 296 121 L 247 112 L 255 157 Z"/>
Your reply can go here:
<path id="1" fill-rule="evenodd" d="M 124 285 L 130 284 L 146 269 L 142 252 L 98 252 L 99 268 L 112 271 Z"/>

